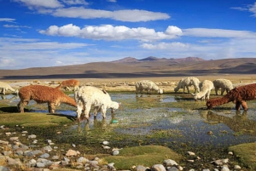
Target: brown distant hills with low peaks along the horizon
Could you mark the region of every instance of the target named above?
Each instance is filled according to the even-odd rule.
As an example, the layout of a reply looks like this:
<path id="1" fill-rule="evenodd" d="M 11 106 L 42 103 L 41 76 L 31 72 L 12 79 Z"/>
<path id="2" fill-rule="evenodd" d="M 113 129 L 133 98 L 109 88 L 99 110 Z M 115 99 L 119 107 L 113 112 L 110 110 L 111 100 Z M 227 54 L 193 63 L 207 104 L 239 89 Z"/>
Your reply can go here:
<path id="1" fill-rule="evenodd" d="M 112 62 L 0 70 L 0 79 L 184 77 L 218 74 L 256 74 L 256 58 L 203 60 L 198 57 L 167 59 L 149 56 L 137 60 L 126 57 Z"/>

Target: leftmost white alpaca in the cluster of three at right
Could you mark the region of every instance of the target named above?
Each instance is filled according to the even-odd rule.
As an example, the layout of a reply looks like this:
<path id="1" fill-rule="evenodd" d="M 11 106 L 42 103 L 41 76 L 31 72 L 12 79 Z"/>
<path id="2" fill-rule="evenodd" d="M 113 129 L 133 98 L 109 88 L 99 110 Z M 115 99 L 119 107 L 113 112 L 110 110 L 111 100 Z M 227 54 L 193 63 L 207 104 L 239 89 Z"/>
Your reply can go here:
<path id="1" fill-rule="evenodd" d="M 182 78 L 178 83 L 177 83 L 177 87 L 174 88 L 175 93 L 177 93 L 177 91 L 179 90 L 179 88 L 183 88 L 183 93 L 185 92 L 185 88 L 187 88 L 188 93 L 189 93 L 189 87 L 190 86 L 194 86 L 195 88 L 195 93 L 199 92 L 199 84 L 200 81 L 197 77 L 185 77 Z"/>

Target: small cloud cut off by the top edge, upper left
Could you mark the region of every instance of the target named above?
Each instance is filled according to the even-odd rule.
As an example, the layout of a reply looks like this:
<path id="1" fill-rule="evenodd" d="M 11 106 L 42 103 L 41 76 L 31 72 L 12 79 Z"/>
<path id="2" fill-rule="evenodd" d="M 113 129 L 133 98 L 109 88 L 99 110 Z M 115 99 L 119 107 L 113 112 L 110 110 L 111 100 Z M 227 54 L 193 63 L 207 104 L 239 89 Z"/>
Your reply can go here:
<path id="1" fill-rule="evenodd" d="M 14 0 L 18 3 L 25 4 L 29 9 L 40 9 L 40 8 L 47 8 L 47 9 L 56 9 L 61 8 L 63 5 L 58 0 Z"/>

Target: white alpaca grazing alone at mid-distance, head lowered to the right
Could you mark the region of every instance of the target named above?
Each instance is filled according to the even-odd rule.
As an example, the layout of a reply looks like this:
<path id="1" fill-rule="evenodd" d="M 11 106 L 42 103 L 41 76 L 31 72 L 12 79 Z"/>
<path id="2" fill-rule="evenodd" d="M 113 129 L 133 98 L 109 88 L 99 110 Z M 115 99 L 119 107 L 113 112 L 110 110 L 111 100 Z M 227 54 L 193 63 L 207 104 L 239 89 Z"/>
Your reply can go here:
<path id="1" fill-rule="evenodd" d="M 154 82 L 150 80 L 142 80 L 135 84 L 136 94 L 143 94 L 143 90 L 147 90 L 150 94 L 151 90 L 157 91 L 158 94 L 163 94 L 163 89 L 159 88 Z"/>

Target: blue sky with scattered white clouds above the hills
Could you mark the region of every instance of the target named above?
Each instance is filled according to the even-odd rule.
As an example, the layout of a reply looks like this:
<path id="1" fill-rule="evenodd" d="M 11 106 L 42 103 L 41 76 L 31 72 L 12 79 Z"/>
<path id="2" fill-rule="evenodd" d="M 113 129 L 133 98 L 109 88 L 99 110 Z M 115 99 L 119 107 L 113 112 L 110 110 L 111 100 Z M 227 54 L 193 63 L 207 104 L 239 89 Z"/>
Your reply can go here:
<path id="1" fill-rule="evenodd" d="M 0 69 L 256 57 L 256 1 L 0 0 Z"/>

